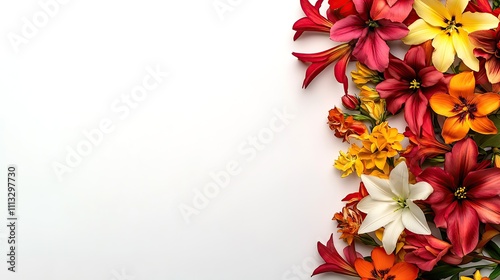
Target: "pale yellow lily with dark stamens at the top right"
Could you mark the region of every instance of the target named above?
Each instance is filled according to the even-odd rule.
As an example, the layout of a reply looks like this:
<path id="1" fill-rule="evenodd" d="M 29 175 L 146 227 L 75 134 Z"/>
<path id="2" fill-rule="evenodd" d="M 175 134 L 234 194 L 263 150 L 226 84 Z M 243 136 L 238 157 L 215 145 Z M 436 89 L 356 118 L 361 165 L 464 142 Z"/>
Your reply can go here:
<path id="1" fill-rule="evenodd" d="M 470 69 L 478 71 L 479 61 L 469 33 L 496 28 L 499 20 L 489 13 L 464 13 L 468 3 L 469 0 L 447 0 L 445 6 L 438 0 L 415 0 L 413 8 L 420 19 L 408 27 L 410 32 L 403 42 L 418 45 L 432 39 L 432 63 L 441 72 L 448 70 L 455 54 Z"/>

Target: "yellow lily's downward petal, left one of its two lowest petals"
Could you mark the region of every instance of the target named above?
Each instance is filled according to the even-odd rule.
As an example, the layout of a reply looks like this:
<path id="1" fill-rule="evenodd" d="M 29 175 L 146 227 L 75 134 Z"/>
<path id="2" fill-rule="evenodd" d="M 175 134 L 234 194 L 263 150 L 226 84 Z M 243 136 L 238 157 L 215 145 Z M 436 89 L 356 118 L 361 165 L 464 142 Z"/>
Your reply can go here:
<path id="1" fill-rule="evenodd" d="M 451 37 L 444 32 L 440 32 L 432 41 L 432 46 L 434 47 L 432 63 L 441 72 L 446 72 L 455 60 L 456 52 Z"/>

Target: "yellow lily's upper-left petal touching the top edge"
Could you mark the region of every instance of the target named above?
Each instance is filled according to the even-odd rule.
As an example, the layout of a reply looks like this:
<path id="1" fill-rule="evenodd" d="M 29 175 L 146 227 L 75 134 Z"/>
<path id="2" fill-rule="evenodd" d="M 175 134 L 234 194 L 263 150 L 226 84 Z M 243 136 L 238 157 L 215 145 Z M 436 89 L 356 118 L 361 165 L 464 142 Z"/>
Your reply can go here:
<path id="1" fill-rule="evenodd" d="M 423 20 L 435 27 L 446 27 L 445 19 L 451 19 L 448 10 L 438 0 L 415 0 L 413 8 Z"/>

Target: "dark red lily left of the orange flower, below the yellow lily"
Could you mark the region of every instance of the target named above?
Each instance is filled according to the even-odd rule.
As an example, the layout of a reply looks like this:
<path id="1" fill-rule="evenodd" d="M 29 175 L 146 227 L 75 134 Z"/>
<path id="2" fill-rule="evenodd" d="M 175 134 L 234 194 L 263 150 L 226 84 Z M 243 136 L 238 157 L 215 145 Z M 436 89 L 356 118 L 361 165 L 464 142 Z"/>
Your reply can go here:
<path id="1" fill-rule="evenodd" d="M 426 64 L 425 58 L 425 50 L 420 46 L 411 48 L 404 60 L 391 57 L 384 73 L 385 80 L 377 85 L 389 112 L 394 115 L 405 106 L 406 122 L 416 135 L 420 134 L 424 118 L 430 120 L 428 98 L 436 92 L 447 91 L 443 73 Z"/>

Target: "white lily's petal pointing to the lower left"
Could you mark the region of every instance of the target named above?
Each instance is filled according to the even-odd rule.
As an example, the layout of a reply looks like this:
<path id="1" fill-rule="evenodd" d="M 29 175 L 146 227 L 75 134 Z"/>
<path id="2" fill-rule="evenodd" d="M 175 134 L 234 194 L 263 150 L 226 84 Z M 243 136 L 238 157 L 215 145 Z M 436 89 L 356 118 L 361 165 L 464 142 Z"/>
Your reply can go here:
<path id="1" fill-rule="evenodd" d="M 400 219 L 401 210 L 398 210 L 399 205 L 393 203 L 378 203 L 377 207 L 370 209 L 365 220 L 361 223 L 358 233 L 367 233 L 376 231 L 377 229 L 386 226 L 395 219 Z"/>

